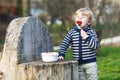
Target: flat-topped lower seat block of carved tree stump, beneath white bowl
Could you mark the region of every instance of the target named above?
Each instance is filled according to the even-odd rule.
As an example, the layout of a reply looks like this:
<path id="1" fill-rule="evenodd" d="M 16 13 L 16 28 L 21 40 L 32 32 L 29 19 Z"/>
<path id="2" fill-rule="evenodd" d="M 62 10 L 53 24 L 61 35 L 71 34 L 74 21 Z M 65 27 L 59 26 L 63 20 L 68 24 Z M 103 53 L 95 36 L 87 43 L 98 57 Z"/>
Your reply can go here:
<path id="1" fill-rule="evenodd" d="M 17 80 L 78 80 L 77 65 L 77 61 L 23 63 L 19 64 Z"/>

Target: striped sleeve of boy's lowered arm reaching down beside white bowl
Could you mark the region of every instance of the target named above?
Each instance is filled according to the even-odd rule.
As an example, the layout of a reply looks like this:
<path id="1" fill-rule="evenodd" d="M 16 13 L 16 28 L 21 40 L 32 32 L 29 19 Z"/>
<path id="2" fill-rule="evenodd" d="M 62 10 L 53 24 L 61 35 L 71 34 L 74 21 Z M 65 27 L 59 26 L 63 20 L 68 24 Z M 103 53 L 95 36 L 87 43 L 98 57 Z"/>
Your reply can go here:
<path id="1" fill-rule="evenodd" d="M 59 56 L 65 57 L 65 53 L 67 51 L 67 48 L 69 47 L 69 44 L 71 43 L 71 32 L 69 31 L 68 34 L 64 37 L 60 49 L 59 49 Z"/>

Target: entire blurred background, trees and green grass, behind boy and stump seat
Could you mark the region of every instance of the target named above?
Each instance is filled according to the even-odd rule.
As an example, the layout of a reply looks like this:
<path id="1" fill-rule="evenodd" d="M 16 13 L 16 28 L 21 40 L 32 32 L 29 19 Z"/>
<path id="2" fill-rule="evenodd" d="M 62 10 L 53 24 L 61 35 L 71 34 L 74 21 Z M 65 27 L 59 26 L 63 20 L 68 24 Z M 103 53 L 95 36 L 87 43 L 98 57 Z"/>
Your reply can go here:
<path id="1" fill-rule="evenodd" d="M 0 0 L 0 52 L 11 20 L 27 16 L 40 18 L 53 46 L 59 46 L 65 34 L 75 26 L 73 14 L 81 7 L 90 7 L 96 19 L 93 28 L 100 42 L 99 80 L 120 80 L 119 0 Z"/>

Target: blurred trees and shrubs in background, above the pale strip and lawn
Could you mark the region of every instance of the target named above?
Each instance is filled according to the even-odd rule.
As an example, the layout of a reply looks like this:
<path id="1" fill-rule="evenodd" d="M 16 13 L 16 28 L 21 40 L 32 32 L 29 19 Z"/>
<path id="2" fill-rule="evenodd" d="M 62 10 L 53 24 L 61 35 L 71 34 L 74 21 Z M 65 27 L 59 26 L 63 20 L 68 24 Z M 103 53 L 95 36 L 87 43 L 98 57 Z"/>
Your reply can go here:
<path id="1" fill-rule="evenodd" d="M 90 7 L 95 15 L 99 40 L 119 36 L 119 0 L 0 0 L 0 43 L 12 19 L 39 17 L 49 30 L 54 46 L 60 45 L 64 35 L 74 26 L 73 14 L 80 7 Z"/>

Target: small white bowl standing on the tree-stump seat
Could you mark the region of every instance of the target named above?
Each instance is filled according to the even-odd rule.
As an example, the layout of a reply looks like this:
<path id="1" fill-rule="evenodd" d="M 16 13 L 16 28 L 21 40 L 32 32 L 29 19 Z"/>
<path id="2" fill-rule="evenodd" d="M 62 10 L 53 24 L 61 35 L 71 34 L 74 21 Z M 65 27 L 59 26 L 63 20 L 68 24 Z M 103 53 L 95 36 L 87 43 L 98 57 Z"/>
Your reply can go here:
<path id="1" fill-rule="evenodd" d="M 58 52 L 43 52 L 42 61 L 44 62 L 54 62 L 58 60 Z"/>

